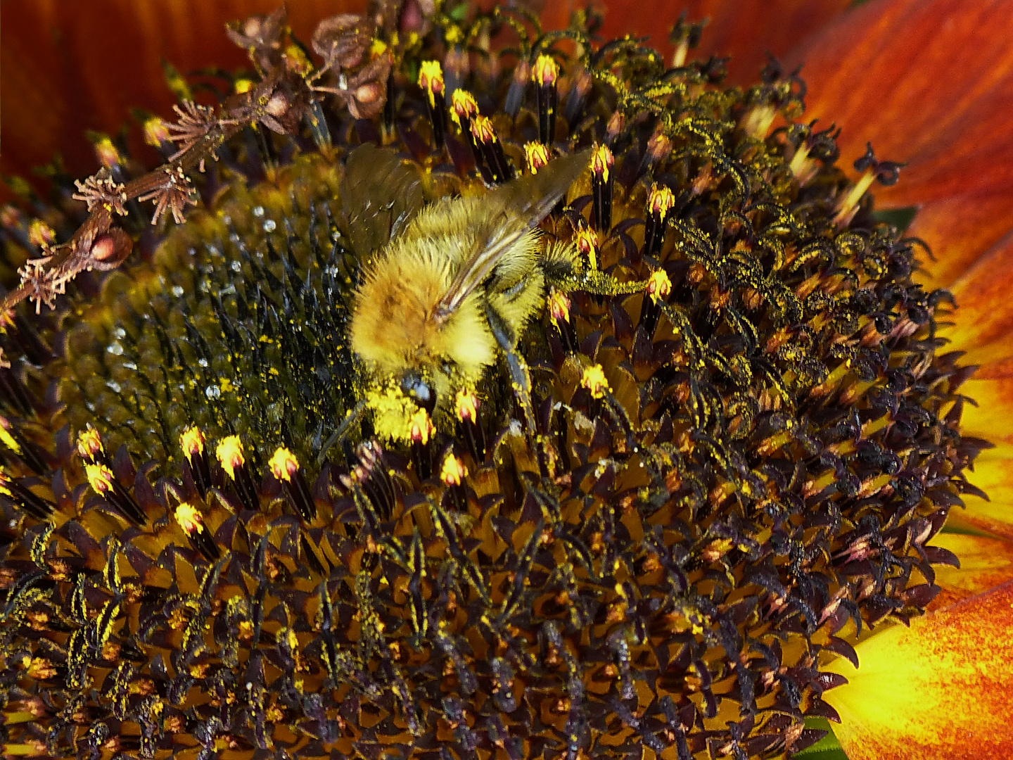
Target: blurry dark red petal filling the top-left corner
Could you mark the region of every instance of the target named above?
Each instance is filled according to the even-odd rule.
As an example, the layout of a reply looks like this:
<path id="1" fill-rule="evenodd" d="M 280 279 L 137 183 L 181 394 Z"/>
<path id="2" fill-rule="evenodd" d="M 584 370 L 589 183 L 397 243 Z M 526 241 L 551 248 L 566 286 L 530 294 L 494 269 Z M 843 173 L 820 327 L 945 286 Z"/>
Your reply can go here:
<path id="1" fill-rule="evenodd" d="M 281 0 L 4 0 L 0 4 L 0 171 L 30 176 L 63 153 L 72 174 L 97 167 L 86 129 L 115 133 L 134 106 L 172 116 L 160 61 L 188 72 L 248 67 L 225 22 Z M 299 0 L 289 20 L 307 41 L 317 21 L 366 0 Z M 138 143 L 140 144 L 140 142 Z"/>

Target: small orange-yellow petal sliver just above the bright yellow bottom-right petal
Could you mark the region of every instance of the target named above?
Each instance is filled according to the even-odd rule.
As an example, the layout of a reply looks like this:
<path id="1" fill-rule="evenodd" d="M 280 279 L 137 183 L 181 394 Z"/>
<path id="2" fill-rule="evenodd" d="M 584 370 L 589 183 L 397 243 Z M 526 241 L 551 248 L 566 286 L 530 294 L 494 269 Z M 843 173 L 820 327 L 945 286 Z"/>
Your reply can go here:
<path id="1" fill-rule="evenodd" d="M 936 584 L 942 592 L 932 600 L 930 610 L 982 594 L 1013 581 L 1013 541 L 958 533 L 940 533 L 932 545 L 948 549 L 960 557 L 960 566 L 937 565 Z"/>

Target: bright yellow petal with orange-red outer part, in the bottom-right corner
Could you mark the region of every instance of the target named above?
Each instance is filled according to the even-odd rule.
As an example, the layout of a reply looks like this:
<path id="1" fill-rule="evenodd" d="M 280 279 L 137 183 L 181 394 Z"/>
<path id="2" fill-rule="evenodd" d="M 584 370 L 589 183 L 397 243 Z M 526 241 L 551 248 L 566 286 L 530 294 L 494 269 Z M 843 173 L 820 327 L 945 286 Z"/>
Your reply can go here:
<path id="1" fill-rule="evenodd" d="M 1013 757 L 1013 583 L 877 633 L 830 670 L 849 760 Z"/>

